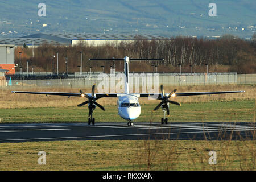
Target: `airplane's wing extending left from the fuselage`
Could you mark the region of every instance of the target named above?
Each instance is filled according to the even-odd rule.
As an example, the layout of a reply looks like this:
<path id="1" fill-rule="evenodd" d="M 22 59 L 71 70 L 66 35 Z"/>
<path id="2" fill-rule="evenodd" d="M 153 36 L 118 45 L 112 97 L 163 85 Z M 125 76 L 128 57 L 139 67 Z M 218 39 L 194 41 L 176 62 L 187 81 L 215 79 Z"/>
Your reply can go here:
<path id="1" fill-rule="evenodd" d="M 25 91 L 11 91 L 12 93 L 28 93 L 28 94 L 41 94 L 41 95 L 53 95 L 53 96 L 73 96 L 73 97 L 84 97 L 81 93 L 68 93 L 68 92 L 25 92 Z M 86 95 L 90 96 L 91 93 L 86 93 Z M 103 93 L 96 93 L 96 98 L 101 97 L 117 97 L 117 94 L 103 94 Z"/>

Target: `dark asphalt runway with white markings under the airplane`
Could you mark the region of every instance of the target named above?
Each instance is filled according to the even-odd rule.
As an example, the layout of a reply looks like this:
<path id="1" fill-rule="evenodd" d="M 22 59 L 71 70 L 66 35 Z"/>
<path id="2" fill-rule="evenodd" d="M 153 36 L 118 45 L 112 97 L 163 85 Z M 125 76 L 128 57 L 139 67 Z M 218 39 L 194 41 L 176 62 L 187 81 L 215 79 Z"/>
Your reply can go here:
<path id="1" fill-rule="evenodd" d="M 253 122 L 103 122 L 1 124 L 0 142 L 56 140 L 233 140 L 255 139 Z M 253 137 L 254 135 L 254 137 Z"/>

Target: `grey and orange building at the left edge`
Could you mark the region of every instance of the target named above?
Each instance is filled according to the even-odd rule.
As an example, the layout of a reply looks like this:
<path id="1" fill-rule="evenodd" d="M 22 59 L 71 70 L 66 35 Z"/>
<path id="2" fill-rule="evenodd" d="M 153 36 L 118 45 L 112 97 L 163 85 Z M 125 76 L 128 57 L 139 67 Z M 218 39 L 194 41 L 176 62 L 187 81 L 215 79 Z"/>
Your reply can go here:
<path id="1" fill-rule="evenodd" d="M 14 44 L 0 44 L 0 68 L 8 71 L 6 75 L 15 74 Z"/>

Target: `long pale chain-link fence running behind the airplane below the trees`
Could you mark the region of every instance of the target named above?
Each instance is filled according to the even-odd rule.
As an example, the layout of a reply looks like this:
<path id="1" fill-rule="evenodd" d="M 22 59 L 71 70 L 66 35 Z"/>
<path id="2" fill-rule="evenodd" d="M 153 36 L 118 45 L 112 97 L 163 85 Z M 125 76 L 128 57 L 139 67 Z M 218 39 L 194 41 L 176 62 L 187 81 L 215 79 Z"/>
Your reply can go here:
<path id="1" fill-rule="evenodd" d="M 108 79 L 108 85 L 117 85 L 118 82 L 123 82 L 121 73 L 110 75 L 105 74 L 105 79 Z M 73 78 L 56 78 L 45 80 L 7 80 L 7 86 L 20 87 L 74 87 L 74 88 L 89 88 L 93 84 L 102 83 L 104 78 L 100 74 L 88 74 L 83 77 Z M 144 84 L 152 84 L 158 81 L 158 84 L 164 86 L 189 86 L 189 85 L 208 85 L 208 84 L 256 84 L 256 74 L 236 73 L 129 73 L 129 84 L 142 86 Z M 111 83 L 112 82 L 112 83 Z M 113 84 L 114 82 L 114 84 Z"/>

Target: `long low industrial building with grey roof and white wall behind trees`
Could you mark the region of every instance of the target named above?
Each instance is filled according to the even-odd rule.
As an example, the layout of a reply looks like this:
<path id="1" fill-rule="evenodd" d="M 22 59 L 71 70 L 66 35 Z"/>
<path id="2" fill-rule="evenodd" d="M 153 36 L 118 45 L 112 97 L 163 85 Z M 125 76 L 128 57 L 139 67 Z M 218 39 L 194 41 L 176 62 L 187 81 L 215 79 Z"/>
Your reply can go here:
<path id="1" fill-rule="evenodd" d="M 38 33 L 20 38 L 0 38 L 0 44 L 14 44 L 15 46 L 41 46 L 51 44 L 55 46 L 71 46 L 79 43 L 86 43 L 89 46 L 98 46 L 102 44 L 113 44 L 121 41 L 134 40 L 166 40 L 162 36 L 151 34 L 45 34 Z"/>

